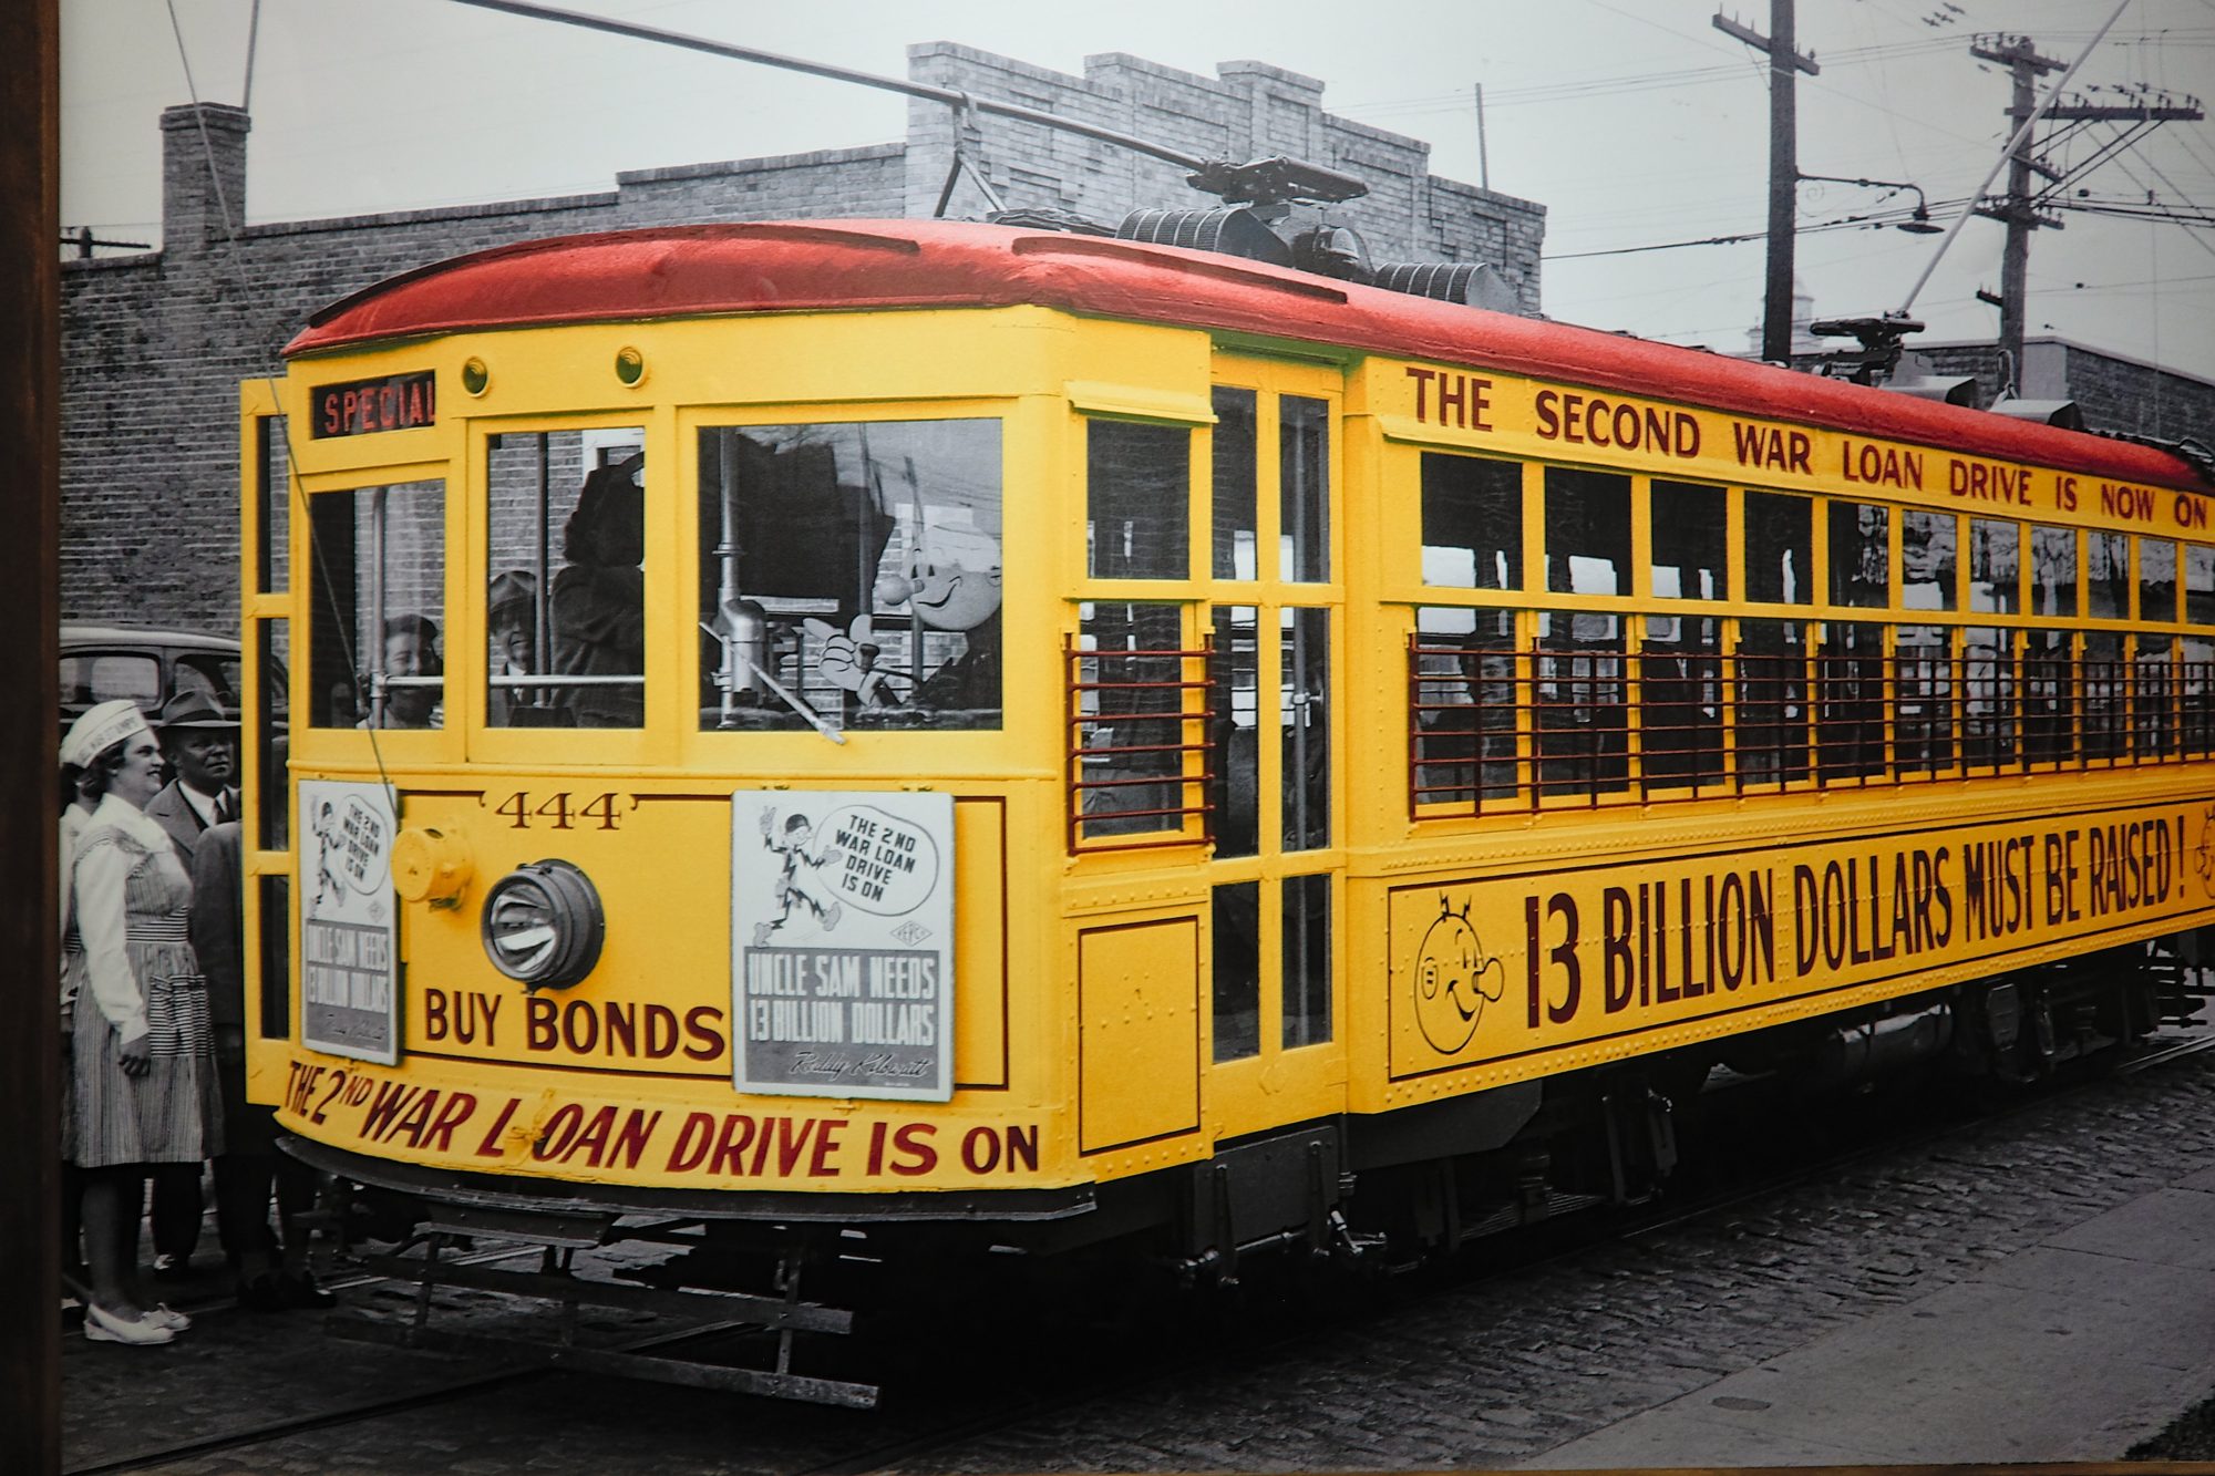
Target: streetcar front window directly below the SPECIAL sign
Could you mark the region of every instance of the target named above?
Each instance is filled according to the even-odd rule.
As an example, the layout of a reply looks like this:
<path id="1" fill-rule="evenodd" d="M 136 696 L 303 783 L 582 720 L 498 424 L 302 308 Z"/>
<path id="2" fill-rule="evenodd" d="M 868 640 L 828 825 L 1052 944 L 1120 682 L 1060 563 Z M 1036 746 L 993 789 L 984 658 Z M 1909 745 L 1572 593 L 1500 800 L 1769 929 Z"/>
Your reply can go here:
<path id="1" fill-rule="evenodd" d="M 445 725 L 445 483 L 317 492 L 308 718 Z"/>

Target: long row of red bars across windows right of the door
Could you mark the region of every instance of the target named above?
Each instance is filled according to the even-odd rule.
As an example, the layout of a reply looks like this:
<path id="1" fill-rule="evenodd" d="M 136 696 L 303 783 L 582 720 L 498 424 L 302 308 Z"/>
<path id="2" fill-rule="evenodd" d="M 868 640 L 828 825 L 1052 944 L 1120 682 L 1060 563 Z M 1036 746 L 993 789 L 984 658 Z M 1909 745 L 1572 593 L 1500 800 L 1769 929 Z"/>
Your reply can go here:
<path id="1" fill-rule="evenodd" d="M 1951 627 L 1949 627 L 1951 629 Z M 2215 756 L 2215 660 L 2078 656 L 2007 629 L 1896 645 L 1883 627 L 1816 652 L 1407 645 L 1409 816 L 1513 813 L 1566 796 L 1628 802 L 1626 689 L 1639 802 L 1710 782 L 1869 787 L 2033 767 Z M 1626 678 L 1635 672 L 1635 680 Z M 1728 680 L 1725 680 L 1728 672 Z M 1725 776 L 1721 734 L 1732 727 Z"/>

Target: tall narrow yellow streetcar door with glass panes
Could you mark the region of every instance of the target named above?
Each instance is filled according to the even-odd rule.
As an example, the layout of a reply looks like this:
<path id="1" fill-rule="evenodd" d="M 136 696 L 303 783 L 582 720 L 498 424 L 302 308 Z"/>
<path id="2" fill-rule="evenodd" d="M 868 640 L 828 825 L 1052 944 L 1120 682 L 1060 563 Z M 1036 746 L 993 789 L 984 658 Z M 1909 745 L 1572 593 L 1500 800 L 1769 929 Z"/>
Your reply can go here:
<path id="1" fill-rule="evenodd" d="M 1203 629 L 1216 663 L 1207 1117 L 1345 1106 L 1345 558 L 1336 368 L 1218 355 Z"/>

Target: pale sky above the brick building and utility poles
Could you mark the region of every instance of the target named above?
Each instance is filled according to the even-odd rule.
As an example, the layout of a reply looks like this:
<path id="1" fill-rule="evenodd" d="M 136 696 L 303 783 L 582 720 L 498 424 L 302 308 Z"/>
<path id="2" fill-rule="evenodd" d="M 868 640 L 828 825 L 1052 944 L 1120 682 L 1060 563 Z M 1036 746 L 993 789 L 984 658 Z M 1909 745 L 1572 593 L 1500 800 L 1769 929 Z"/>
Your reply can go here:
<path id="1" fill-rule="evenodd" d="M 1566 321 L 1743 352 L 1761 321 L 1763 244 L 1575 257 L 1759 233 L 1768 82 L 1710 24 L 1717 0 L 567 0 L 571 9 L 906 75 L 906 44 L 952 40 L 1081 73 L 1127 51 L 1214 75 L 1251 58 L 1320 78 L 1325 106 L 1431 142 L 1431 168 L 1548 206 L 1544 308 Z M 1721 9 L 1768 31 L 1768 4 Z M 1805 173 L 1920 184 L 1958 215 L 2009 131 L 2007 78 L 1978 33 L 2029 35 L 2073 62 L 2106 0 L 1801 0 Z M 704 58 L 452 0 L 261 0 L 248 98 L 248 217 L 306 219 L 614 188 L 618 171 L 890 142 L 893 93 Z M 69 0 L 62 7 L 62 224 L 153 242 L 164 106 L 239 102 L 253 0 Z M 1931 24 L 1931 22 L 1940 24 Z M 2053 82 L 2058 73 L 2047 78 Z M 2091 91 L 2091 89 L 2100 91 Z M 2071 84 L 2091 102 L 2166 89 L 2215 102 L 2215 0 L 2131 0 Z M 2058 162 L 2115 140 L 2080 129 Z M 2005 186 L 2005 175 L 1998 182 Z M 2067 213 L 2031 237 L 2031 335 L 2215 379 L 2215 124 L 2164 122 L 2071 182 L 2098 199 L 2195 215 L 2197 228 Z M 1198 197 L 1194 195 L 1194 202 Z M 1954 202 L 1938 208 L 1940 202 Z M 1185 202 L 1163 202 L 1185 204 Z M 1801 222 L 1907 204 L 1803 184 Z M 1799 237 L 1823 315 L 1898 308 L 1938 235 Z M 1991 339 L 1996 222 L 1971 219 L 1914 301 L 1927 341 Z"/>

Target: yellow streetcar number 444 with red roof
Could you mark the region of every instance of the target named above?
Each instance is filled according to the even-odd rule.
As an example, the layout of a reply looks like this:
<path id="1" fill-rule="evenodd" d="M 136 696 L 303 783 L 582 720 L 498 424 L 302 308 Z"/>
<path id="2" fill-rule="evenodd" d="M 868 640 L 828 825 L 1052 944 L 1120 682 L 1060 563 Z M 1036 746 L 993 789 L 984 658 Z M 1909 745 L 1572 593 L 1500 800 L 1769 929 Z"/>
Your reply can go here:
<path id="1" fill-rule="evenodd" d="M 441 1232 L 1418 1254 L 1648 1192 L 1719 1062 L 2142 1035 L 2215 924 L 2157 448 L 944 222 L 487 250 L 286 357 L 253 1093 Z"/>

